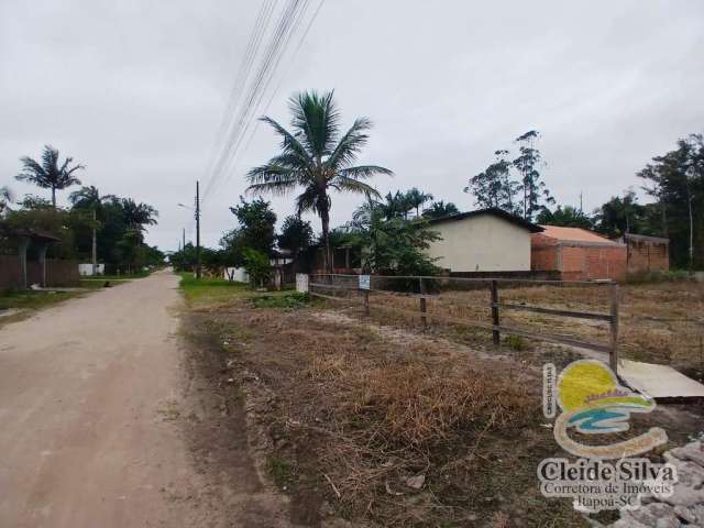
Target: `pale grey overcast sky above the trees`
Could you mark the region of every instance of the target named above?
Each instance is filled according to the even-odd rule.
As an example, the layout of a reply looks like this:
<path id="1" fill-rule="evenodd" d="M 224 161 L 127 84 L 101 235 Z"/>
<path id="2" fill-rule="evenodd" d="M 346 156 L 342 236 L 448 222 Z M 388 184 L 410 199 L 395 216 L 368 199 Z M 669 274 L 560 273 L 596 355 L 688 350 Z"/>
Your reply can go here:
<path id="1" fill-rule="evenodd" d="M 206 177 L 258 9 L 253 0 L 2 0 L 0 185 L 35 193 L 14 182 L 18 158 L 51 143 L 86 164 L 85 184 L 158 209 L 150 243 L 175 249 L 184 227 L 193 238 L 191 215 L 176 204 L 190 202 Z M 375 182 L 381 193 L 417 186 L 462 210 L 474 206 L 462 193 L 468 178 L 536 129 L 558 202 L 579 204 L 583 193 L 591 210 L 637 188 L 635 173 L 678 138 L 703 131 L 703 51 L 701 0 L 327 0 L 278 68 L 266 112 L 287 123 L 293 92 L 334 89 L 345 125 L 374 121 L 361 161 L 396 173 Z M 206 244 L 234 227 L 228 206 L 245 170 L 276 145 L 258 125 L 204 205 Z M 293 211 L 293 198 L 272 201 L 279 220 Z M 359 202 L 334 196 L 332 224 Z"/>

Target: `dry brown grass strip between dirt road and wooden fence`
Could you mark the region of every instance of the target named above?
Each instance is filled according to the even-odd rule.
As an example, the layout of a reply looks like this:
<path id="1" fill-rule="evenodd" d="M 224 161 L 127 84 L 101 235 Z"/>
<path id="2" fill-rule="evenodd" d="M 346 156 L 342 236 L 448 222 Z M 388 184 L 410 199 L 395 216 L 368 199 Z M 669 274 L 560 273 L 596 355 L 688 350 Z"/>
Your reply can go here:
<path id="1" fill-rule="evenodd" d="M 356 308 L 224 285 L 213 305 L 208 286 L 186 287 L 188 334 L 213 383 L 243 398 L 250 441 L 262 470 L 290 495 L 294 522 L 588 526 L 569 502 L 539 493 L 538 462 L 559 449 L 540 415 L 540 371 L 529 351 L 458 342 L 486 340 L 484 331 L 381 326 L 381 310 L 363 319 Z M 221 288 L 230 288 L 229 300 Z M 701 418 L 682 416 L 671 409 L 648 419 L 678 444 L 701 429 Z M 634 424 L 636 431 L 648 425 Z"/>

